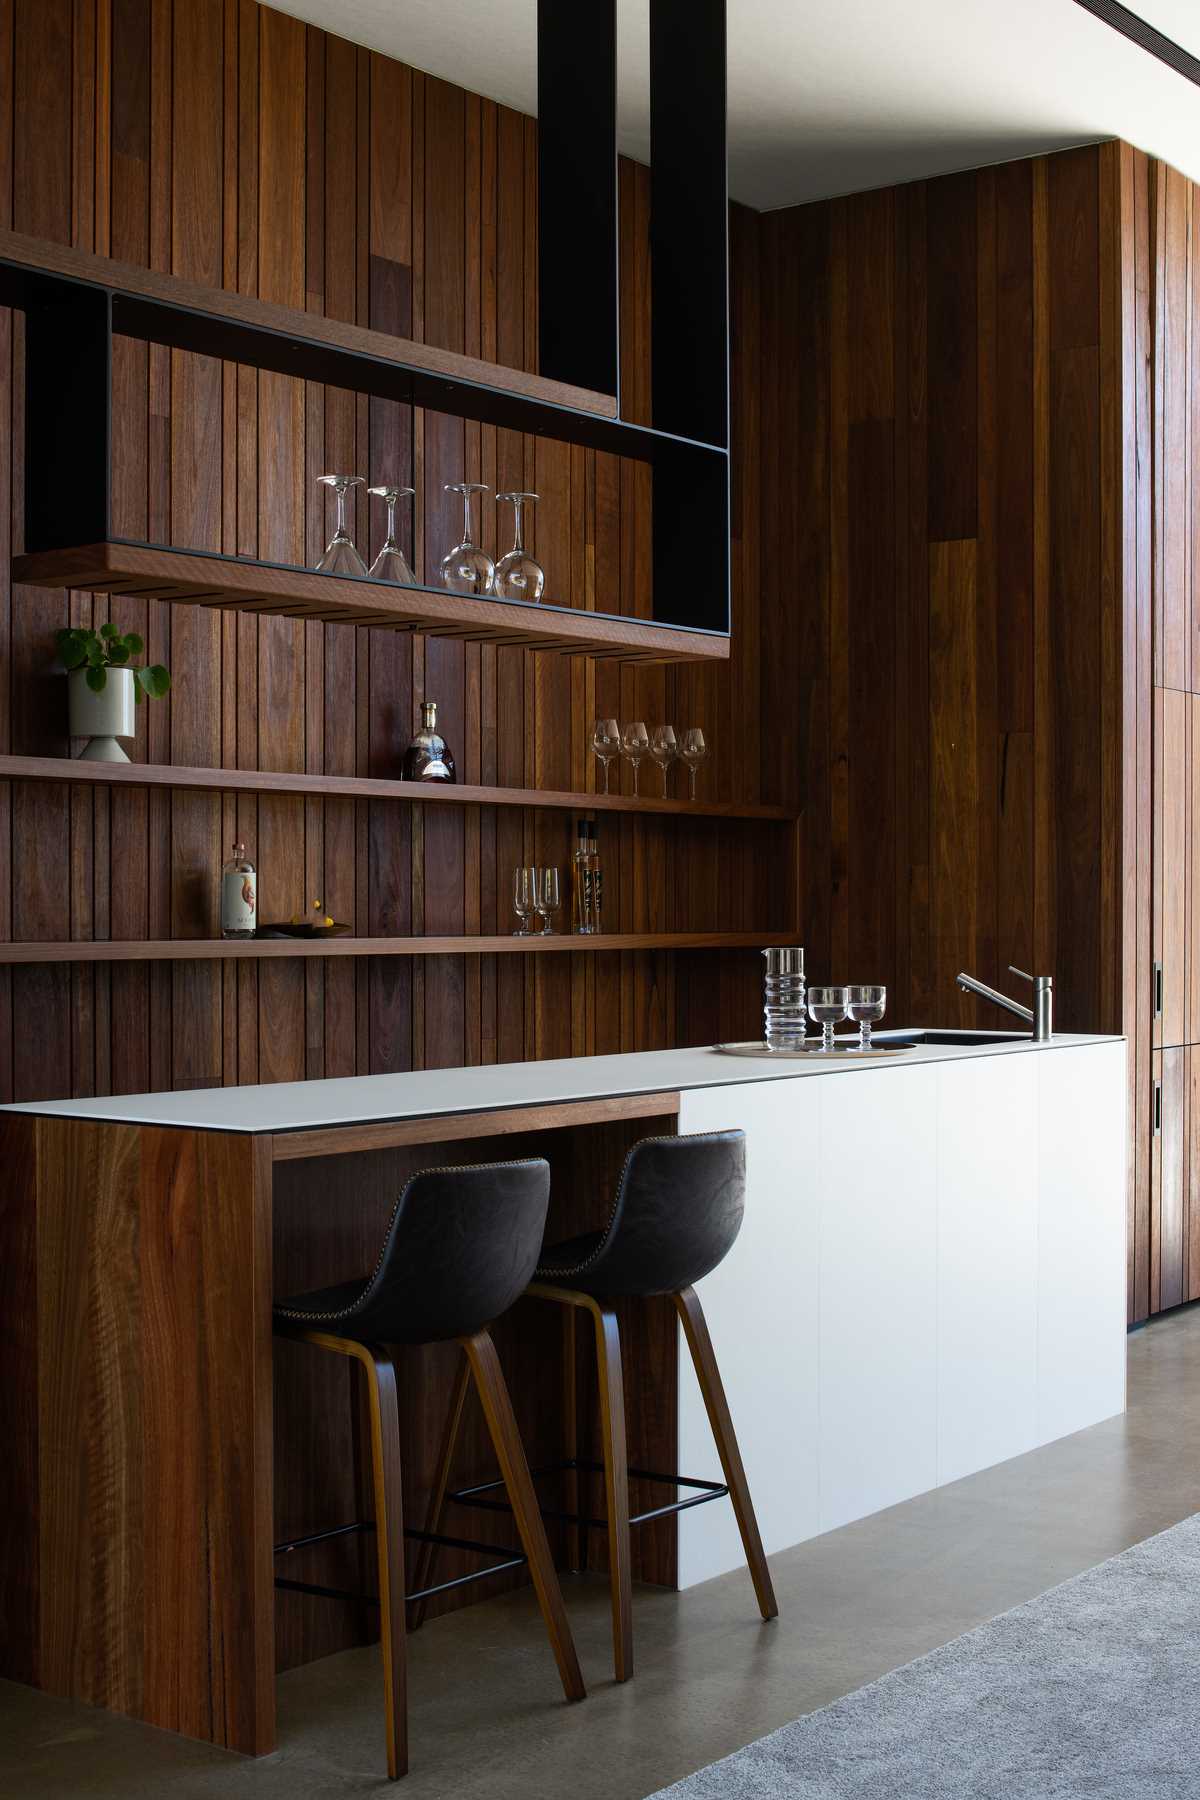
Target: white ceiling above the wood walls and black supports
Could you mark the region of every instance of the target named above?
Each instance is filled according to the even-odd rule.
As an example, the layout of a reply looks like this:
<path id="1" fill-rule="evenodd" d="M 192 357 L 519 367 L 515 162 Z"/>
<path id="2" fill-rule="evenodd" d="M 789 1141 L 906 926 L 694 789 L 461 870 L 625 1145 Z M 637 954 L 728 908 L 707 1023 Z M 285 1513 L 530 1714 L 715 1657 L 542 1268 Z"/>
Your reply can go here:
<path id="1" fill-rule="evenodd" d="M 617 4 L 621 149 L 648 160 L 648 0 Z M 288 0 L 282 11 L 536 112 L 534 0 Z M 1133 11 L 1200 56 L 1200 0 L 1133 0 Z M 729 184 L 748 205 L 1101 137 L 1200 180 L 1200 88 L 1074 0 L 729 0 Z"/>

